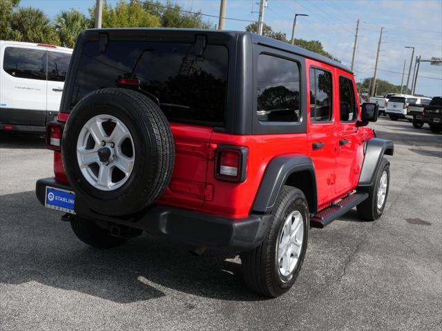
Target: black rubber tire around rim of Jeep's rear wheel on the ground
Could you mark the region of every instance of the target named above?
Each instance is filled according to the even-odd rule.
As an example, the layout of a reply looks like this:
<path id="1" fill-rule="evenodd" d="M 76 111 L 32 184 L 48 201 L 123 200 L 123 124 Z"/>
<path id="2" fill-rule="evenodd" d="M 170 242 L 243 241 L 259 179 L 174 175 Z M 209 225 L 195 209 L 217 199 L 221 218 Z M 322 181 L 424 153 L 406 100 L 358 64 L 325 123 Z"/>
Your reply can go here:
<path id="1" fill-rule="evenodd" d="M 277 257 L 278 238 L 285 219 L 294 210 L 298 210 L 302 215 L 302 244 L 294 270 L 287 276 L 283 276 Z M 245 282 L 251 290 L 267 297 L 278 297 L 287 292 L 296 281 L 307 250 L 309 208 L 302 191 L 291 186 L 284 186 L 272 215 L 264 241 L 257 248 L 242 252 L 241 261 Z"/>

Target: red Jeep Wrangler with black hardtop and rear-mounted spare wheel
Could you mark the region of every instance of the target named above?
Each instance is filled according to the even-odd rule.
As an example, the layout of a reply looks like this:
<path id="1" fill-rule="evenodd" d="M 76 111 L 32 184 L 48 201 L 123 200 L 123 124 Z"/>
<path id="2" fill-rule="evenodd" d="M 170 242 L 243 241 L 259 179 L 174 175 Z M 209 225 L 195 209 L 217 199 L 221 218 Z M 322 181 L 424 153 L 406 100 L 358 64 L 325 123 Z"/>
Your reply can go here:
<path id="1" fill-rule="evenodd" d="M 37 197 L 95 247 L 147 231 L 240 252 L 247 285 L 277 297 L 310 227 L 381 217 L 394 146 L 367 127 L 377 112 L 340 63 L 256 34 L 87 30 Z"/>

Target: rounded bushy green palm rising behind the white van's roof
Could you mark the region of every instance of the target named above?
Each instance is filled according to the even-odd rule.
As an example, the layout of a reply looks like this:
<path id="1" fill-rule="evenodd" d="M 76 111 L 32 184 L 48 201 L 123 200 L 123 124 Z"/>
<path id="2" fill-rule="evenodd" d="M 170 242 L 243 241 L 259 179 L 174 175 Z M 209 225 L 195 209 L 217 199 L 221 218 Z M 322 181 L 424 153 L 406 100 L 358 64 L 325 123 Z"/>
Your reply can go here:
<path id="1" fill-rule="evenodd" d="M 50 19 L 39 9 L 21 7 L 12 14 L 10 23 L 15 41 L 59 44 L 59 38 Z"/>

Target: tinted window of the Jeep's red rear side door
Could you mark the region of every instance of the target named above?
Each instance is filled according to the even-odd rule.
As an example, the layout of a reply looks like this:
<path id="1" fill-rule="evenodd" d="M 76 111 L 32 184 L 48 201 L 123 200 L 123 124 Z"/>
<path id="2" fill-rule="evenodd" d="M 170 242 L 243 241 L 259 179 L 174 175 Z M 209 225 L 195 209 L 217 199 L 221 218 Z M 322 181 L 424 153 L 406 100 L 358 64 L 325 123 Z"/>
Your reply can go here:
<path id="1" fill-rule="evenodd" d="M 311 121 L 332 121 L 332 73 L 310 68 L 309 76 Z"/>

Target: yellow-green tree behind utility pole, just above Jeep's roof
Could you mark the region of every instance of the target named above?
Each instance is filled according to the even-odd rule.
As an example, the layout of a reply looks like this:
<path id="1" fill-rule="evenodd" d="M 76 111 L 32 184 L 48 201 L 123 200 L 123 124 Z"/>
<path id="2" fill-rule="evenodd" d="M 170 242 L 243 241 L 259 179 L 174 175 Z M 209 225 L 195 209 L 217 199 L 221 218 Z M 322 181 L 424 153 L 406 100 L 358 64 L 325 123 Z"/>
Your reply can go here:
<path id="1" fill-rule="evenodd" d="M 95 6 L 89 9 L 95 19 Z M 137 1 L 120 0 L 115 7 L 107 1 L 103 3 L 102 28 L 158 28 L 160 17 L 143 8 Z"/>

